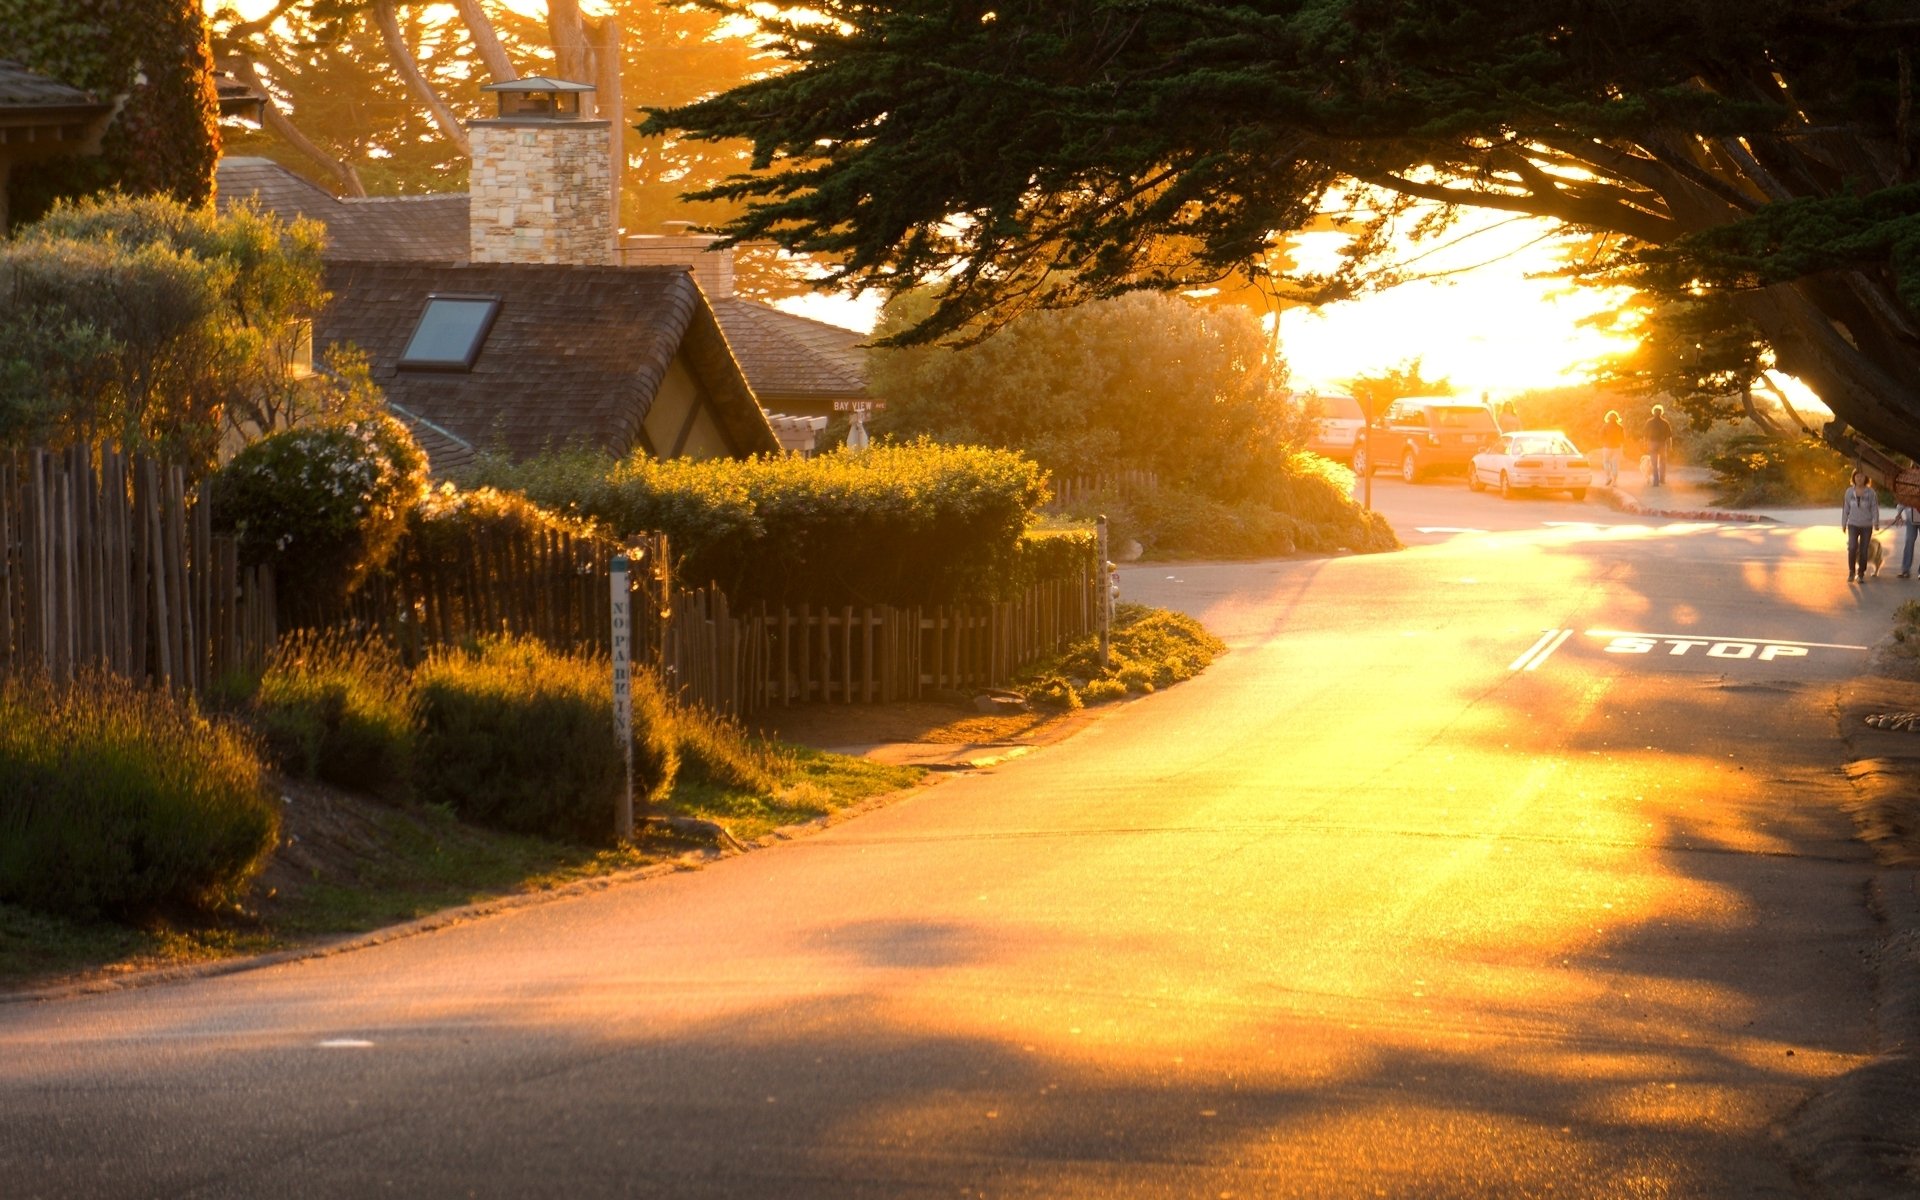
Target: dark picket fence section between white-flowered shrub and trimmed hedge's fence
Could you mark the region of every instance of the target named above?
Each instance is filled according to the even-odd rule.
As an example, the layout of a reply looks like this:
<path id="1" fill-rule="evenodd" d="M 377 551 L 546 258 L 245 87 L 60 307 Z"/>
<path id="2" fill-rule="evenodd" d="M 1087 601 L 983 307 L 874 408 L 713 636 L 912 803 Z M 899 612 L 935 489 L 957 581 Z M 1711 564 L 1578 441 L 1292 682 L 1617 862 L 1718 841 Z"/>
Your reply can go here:
<path id="1" fill-rule="evenodd" d="M 419 662 L 434 645 L 492 634 L 536 637 L 561 651 L 612 649 L 612 557 L 632 559 L 634 655 L 659 657 L 668 586 L 666 534 L 622 547 L 561 530 L 476 526 L 432 545 L 403 538 L 392 563 L 344 611 L 313 624 L 376 632 Z"/>

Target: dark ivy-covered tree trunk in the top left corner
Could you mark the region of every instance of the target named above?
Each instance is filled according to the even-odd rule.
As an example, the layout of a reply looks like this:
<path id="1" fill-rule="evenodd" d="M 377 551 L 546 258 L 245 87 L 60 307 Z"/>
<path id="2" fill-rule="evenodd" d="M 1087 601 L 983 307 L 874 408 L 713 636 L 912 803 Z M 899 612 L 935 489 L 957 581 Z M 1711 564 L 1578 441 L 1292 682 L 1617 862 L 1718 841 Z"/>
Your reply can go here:
<path id="1" fill-rule="evenodd" d="M 219 109 L 200 0 L 0 0 L 0 58 L 102 100 L 125 96 L 98 156 L 13 171 L 15 221 L 109 188 L 188 205 L 213 196 Z"/>

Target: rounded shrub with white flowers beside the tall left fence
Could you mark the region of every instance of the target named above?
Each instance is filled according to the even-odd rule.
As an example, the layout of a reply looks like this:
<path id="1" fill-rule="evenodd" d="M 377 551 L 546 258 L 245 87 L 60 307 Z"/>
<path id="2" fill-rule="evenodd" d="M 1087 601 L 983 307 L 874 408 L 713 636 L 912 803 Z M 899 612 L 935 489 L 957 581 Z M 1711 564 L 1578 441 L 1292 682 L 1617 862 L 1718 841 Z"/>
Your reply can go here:
<path id="1" fill-rule="evenodd" d="M 313 424 L 248 445 L 213 476 L 213 522 L 267 563 L 282 603 L 315 614 L 386 564 L 426 488 L 426 455 L 399 420 L 376 413 Z"/>

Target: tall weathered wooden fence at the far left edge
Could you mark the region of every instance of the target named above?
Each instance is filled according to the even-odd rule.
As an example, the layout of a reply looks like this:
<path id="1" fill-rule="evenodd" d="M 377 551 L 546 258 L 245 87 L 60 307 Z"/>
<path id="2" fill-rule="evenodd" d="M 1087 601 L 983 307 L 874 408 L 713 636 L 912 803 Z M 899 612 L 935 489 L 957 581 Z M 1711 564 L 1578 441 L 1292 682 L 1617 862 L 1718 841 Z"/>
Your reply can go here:
<path id="1" fill-rule="evenodd" d="M 0 457 L 0 672 L 104 668 L 182 691 L 257 668 L 273 574 L 215 538 L 205 490 L 115 449 Z"/>

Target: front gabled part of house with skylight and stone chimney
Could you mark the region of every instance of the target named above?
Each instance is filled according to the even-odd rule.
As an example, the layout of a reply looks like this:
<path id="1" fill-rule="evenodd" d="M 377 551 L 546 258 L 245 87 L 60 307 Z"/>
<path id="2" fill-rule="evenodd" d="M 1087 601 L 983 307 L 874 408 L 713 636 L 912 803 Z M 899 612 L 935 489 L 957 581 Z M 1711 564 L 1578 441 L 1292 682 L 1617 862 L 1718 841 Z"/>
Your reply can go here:
<path id="1" fill-rule="evenodd" d="M 436 472 L 482 451 L 778 453 L 753 386 L 685 265 L 616 263 L 607 121 L 591 88 L 490 84 L 472 192 L 340 200 L 267 159 L 225 159 L 221 204 L 326 227 L 332 300 L 313 344 L 355 346 Z"/>

